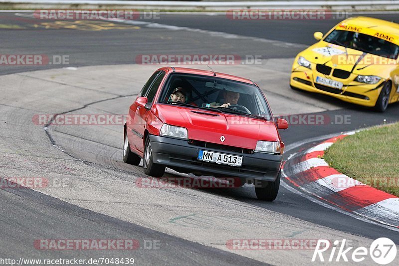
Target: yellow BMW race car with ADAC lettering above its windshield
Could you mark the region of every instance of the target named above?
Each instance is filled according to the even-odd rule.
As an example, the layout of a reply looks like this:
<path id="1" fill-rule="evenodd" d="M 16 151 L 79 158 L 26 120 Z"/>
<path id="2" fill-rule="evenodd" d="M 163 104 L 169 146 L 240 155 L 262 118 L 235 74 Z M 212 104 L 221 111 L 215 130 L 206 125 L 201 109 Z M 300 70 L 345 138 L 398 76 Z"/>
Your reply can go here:
<path id="1" fill-rule="evenodd" d="M 318 92 L 384 112 L 399 101 L 399 24 L 351 17 L 300 52 L 292 65 L 293 89 Z"/>

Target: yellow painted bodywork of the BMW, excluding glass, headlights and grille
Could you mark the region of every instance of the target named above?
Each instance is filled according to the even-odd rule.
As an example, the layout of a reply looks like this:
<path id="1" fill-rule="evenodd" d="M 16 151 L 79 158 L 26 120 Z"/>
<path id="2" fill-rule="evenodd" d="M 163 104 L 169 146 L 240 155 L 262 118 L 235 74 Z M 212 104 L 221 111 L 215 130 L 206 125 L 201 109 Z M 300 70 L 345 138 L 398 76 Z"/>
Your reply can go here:
<path id="1" fill-rule="evenodd" d="M 399 45 L 398 23 L 371 17 L 351 17 L 338 23 L 324 36 L 328 36 L 328 34 L 335 29 L 361 32 Z M 330 53 L 330 55 L 327 52 L 324 54 L 318 52 L 318 50 L 323 48 L 329 48 L 330 51 L 328 51 L 328 53 Z M 311 62 L 311 69 L 298 64 L 299 56 L 302 56 Z M 359 58 L 362 58 L 360 62 L 358 62 Z M 345 79 L 334 76 L 332 74 L 333 71 L 330 71 L 329 75 L 324 75 L 317 70 L 317 64 L 325 64 L 332 69 L 346 70 L 350 72 L 350 75 Z M 392 103 L 399 101 L 399 95 L 395 93 L 399 93 L 398 73 L 399 58 L 386 58 L 370 53 L 363 56 L 363 52 L 356 48 L 345 49 L 343 46 L 320 40 L 297 54 L 292 65 L 290 85 L 306 91 L 327 94 L 355 104 L 374 107 L 380 97 L 380 92 L 386 80 L 392 80 L 394 85 L 389 102 Z M 355 81 L 358 75 L 374 75 L 380 77 L 380 80 L 375 84 L 361 83 Z M 342 90 L 335 90 L 332 92 L 323 90 L 323 84 L 319 84 L 319 86 L 315 85 L 317 76 L 342 82 Z M 310 84 L 308 82 L 310 82 Z M 317 87 L 319 87 L 319 89 L 317 89 Z M 368 99 L 352 97 L 354 94 L 345 94 L 345 92 L 354 93 L 355 95 L 360 94 L 364 97 L 368 97 Z"/>

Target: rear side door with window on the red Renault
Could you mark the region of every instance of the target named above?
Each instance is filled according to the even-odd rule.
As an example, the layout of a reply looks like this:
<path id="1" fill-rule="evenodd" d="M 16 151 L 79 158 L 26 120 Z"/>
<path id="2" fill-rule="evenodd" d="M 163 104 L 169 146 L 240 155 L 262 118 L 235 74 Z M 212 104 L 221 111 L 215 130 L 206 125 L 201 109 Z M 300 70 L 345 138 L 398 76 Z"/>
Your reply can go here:
<path id="1" fill-rule="evenodd" d="M 154 83 L 155 79 L 158 77 L 160 72 L 161 71 L 156 71 L 154 74 L 152 74 L 152 76 L 147 80 L 146 84 L 144 84 L 140 93 L 137 95 L 137 98 L 145 97 L 145 95 L 148 93 L 149 89 L 151 88 L 151 85 Z M 130 105 L 130 108 L 129 108 L 129 114 L 126 119 L 126 132 L 128 134 L 128 139 L 129 139 L 129 143 L 130 143 L 131 147 L 133 149 L 137 150 L 135 143 L 138 142 L 137 139 L 140 138 L 140 136 L 138 135 L 137 132 L 133 131 L 133 124 L 135 121 L 136 111 L 138 109 L 138 106 L 136 105 L 136 99 L 134 100 L 132 105 Z"/>

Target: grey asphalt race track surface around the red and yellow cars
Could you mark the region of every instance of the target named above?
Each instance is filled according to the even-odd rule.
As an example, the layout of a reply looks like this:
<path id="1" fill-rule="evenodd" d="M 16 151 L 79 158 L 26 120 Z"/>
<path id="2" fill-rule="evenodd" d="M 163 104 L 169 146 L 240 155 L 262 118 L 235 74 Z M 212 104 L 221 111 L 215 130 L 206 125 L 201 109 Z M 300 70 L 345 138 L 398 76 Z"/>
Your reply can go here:
<path id="1" fill-rule="evenodd" d="M 398 16 L 368 15 L 387 20 Z M 257 82 L 274 114 L 319 115 L 332 122 L 292 125 L 280 132 L 286 157 L 333 134 L 398 121 L 399 104 L 376 113 L 289 88 L 295 55 L 315 42 L 314 31 L 326 32 L 339 21 L 232 21 L 223 15 L 161 14 L 159 19 L 133 22 L 60 22 L 35 19 L 29 12 L 1 12 L 1 54 L 67 56 L 68 63 L 0 65 L 0 178 L 48 182 L 44 188 L 0 189 L 0 258 L 123 257 L 134 258 L 138 265 L 307 265 L 312 250 L 237 250 L 226 244 L 243 239 L 347 239 L 355 247 L 369 247 L 373 240 L 387 237 L 399 245 L 398 229 L 320 205 L 284 181 L 272 203 L 258 201 L 249 185 L 213 190 L 142 188 L 147 178 L 142 167 L 122 161 L 122 124 L 44 127 L 32 119 L 40 114 L 125 114 L 159 67 L 140 64 L 141 55 L 233 54 L 261 60 L 212 68 Z M 341 123 L 343 117 L 349 122 Z M 164 177 L 176 176 L 181 174 L 168 171 Z M 37 241 L 46 239 L 133 239 L 139 247 L 38 248 Z M 371 263 L 367 258 L 360 264 Z"/>

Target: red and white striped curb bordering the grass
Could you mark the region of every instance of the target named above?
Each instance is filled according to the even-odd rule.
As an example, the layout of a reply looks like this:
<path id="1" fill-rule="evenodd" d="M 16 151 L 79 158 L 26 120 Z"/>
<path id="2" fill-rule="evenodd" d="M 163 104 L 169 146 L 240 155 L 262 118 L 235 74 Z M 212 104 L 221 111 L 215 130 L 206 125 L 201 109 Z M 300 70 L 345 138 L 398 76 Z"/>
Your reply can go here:
<path id="1" fill-rule="evenodd" d="M 299 189 L 348 212 L 399 228 L 399 198 L 339 173 L 322 159 L 324 151 L 355 132 L 328 139 L 289 158 L 286 180 Z"/>

